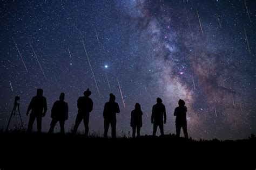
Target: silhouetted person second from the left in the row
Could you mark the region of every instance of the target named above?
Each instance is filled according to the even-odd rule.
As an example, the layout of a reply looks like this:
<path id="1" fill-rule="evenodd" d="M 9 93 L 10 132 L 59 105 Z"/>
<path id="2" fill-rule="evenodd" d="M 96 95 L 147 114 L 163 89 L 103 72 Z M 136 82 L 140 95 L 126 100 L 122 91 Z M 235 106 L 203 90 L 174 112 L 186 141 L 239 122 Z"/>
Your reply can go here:
<path id="1" fill-rule="evenodd" d="M 64 102 L 65 94 L 61 93 L 59 96 L 59 101 L 56 101 L 51 109 L 51 125 L 49 129 L 49 133 L 52 133 L 55 125 L 59 122 L 60 125 L 60 133 L 64 134 L 64 124 L 65 121 L 68 120 L 68 103 Z"/>

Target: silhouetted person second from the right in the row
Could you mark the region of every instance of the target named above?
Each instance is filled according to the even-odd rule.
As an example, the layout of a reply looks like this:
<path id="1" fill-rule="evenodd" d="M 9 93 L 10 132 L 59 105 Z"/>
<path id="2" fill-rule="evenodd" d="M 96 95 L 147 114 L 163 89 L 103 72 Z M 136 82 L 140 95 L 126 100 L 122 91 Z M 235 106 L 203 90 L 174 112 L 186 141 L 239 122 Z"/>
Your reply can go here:
<path id="1" fill-rule="evenodd" d="M 165 105 L 159 97 L 157 98 L 157 104 L 153 105 L 152 108 L 151 123 L 153 123 L 153 136 L 156 136 L 157 126 L 159 126 L 161 136 L 163 136 L 164 123 L 166 123 L 166 111 Z"/>

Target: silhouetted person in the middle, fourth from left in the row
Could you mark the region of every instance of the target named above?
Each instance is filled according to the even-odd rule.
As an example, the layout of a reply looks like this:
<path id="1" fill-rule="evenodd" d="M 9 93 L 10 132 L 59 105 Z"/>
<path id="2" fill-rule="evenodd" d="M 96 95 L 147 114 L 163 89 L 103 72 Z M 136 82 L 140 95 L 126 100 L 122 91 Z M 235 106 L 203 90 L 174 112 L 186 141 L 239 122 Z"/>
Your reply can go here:
<path id="1" fill-rule="evenodd" d="M 111 137 L 116 138 L 116 114 L 120 112 L 119 105 L 114 102 L 116 96 L 112 93 L 109 95 L 109 102 L 104 105 L 103 117 L 104 117 L 104 138 L 107 138 L 107 131 L 109 131 L 109 125 L 111 125 Z"/>

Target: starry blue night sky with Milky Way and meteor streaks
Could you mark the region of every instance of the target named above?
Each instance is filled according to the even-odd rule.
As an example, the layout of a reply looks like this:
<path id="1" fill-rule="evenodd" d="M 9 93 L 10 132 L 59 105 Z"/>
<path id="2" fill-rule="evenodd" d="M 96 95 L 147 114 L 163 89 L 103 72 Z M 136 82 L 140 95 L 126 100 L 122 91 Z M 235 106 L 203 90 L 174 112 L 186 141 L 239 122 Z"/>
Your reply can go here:
<path id="1" fill-rule="evenodd" d="M 26 109 L 42 88 L 48 103 L 42 130 L 49 130 L 52 105 L 64 92 L 69 132 L 77 99 L 90 88 L 90 133 L 102 136 L 104 103 L 113 93 L 119 136 L 131 133 L 137 102 L 141 133 L 152 134 L 152 106 L 160 97 L 166 134 L 176 133 L 173 112 L 181 98 L 189 137 L 248 138 L 256 133 L 255 10 L 253 0 L 1 1 L 0 128 L 17 95 L 27 128 Z"/>

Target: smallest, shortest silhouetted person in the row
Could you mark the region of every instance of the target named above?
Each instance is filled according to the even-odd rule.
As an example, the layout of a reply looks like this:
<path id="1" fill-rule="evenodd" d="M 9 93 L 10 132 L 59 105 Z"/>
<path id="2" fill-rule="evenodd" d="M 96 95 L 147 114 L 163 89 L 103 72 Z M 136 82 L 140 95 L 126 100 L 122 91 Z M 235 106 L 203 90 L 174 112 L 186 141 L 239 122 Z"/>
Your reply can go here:
<path id="1" fill-rule="evenodd" d="M 137 137 L 140 136 L 140 128 L 142 128 L 142 109 L 140 109 L 140 104 L 135 104 L 135 109 L 131 112 L 131 127 L 132 127 L 132 137 L 135 137 L 137 129 Z"/>

